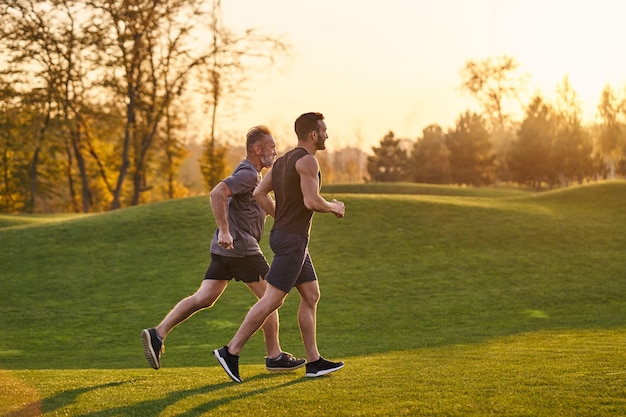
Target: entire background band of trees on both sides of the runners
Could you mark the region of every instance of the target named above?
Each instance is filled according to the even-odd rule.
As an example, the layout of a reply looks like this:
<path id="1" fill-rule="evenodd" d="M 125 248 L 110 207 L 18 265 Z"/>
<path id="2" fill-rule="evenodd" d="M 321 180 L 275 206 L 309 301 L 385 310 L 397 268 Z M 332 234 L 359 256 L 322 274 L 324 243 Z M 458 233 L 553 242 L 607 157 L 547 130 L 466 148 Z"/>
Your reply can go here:
<path id="1" fill-rule="evenodd" d="M 224 27 L 220 0 L 0 0 L 0 212 L 189 195 L 181 168 L 198 106 L 209 132 L 198 171 L 210 189 L 231 168 L 216 128 L 224 106 L 249 74 L 288 54 L 280 38 Z M 555 103 L 535 94 L 522 104 L 527 76 L 511 57 L 468 61 L 461 77 L 480 114 L 415 141 L 389 132 L 373 155 L 324 154 L 326 180 L 541 187 L 626 172 L 626 101 L 609 85 L 598 123 L 583 126 L 567 78 Z"/>

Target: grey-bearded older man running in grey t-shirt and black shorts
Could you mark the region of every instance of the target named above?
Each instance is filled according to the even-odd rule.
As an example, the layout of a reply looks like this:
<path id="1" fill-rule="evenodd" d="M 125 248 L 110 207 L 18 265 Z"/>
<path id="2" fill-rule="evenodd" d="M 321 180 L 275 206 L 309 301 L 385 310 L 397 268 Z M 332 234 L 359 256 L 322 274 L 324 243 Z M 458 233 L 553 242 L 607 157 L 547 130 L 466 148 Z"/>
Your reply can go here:
<path id="1" fill-rule="evenodd" d="M 246 135 L 246 158 L 211 191 L 211 209 L 217 224 L 211 241 L 211 263 L 195 294 L 176 304 L 158 326 L 141 332 L 146 360 L 152 368 L 161 367 L 161 353 L 169 332 L 196 312 L 213 307 L 232 278 L 243 281 L 257 298 L 265 293 L 264 277 L 269 265 L 259 241 L 267 212 L 252 193 L 261 181 L 261 170 L 271 168 L 275 157 L 276 143 L 269 128 L 251 128 Z M 268 371 L 290 371 L 304 366 L 304 359 L 282 351 L 277 313 L 269 315 L 262 328 Z"/>

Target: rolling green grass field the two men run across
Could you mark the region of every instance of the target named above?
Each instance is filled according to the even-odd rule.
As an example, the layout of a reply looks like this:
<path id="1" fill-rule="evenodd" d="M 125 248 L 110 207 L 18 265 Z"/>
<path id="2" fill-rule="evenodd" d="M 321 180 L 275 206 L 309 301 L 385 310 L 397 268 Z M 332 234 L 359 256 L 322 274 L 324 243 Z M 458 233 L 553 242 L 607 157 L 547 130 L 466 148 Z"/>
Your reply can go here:
<path id="1" fill-rule="evenodd" d="M 211 350 L 253 303 L 238 283 L 147 367 L 141 329 L 206 268 L 208 198 L 0 215 L 0 416 L 626 414 L 626 182 L 323 191 L 347 214 L 314 219 L 318 339 L 346 366 L 317 379 L 266 372 L 259 334 L 230 382 Z M 281 344 L 303 356 L 297 304 Z"/>

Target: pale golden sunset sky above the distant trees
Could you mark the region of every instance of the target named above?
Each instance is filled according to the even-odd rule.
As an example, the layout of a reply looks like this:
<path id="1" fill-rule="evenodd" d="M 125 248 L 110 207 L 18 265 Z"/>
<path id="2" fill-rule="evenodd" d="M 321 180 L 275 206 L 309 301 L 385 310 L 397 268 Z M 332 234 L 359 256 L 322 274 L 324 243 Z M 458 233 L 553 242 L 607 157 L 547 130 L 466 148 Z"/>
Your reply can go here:
<path id="1" fill-rule="evenodd" d="M 626 86 L 623 0 L 223 0 L 222 8 L 231 30 L 255 28 L 292 46 L 289 62 L 259 74 L 225 123 L 242 138 L 268 125 L 279 146 L 295 145 L 293 121 L 308 111 L 325 115 L 331 150 L 453 127 L 478 110 L 460 90 L 468 60 L 513 56 L 530 76 L 529 96 L 548 100 L 567 76 L 586 121 L 607 84 Z"/>

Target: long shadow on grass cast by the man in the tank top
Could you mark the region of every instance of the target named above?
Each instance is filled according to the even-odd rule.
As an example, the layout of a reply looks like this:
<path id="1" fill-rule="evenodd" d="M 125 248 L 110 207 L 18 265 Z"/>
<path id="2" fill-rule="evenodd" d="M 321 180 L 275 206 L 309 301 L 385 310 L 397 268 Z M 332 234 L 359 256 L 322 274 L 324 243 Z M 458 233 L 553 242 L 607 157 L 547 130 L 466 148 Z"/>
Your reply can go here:
<path id="1" fill-rule="evenodd" d="M 270 379 L 270 378 L 274 378 L 277 377 L 278 375 L 266 375 L 266 374 L 259 374 L 259 375 L 255 375 L 251 378 L 246 379 L 246 381 L 254 381 L 254 380 L 261 380 L 261 379 Z M 276 386 L 271 386 L 271 387 L 266 387 L 266 388 L 257 388 L 257 389 L 253 389 L 250 390 L 248 392 L 244 392 L 244 393 L 238 393 L 235 395 L 231 395 L 229 397 L 223 397 L 223 398 L 217 398 L 215 400 L 209 401 L 207 403 L 201 404 L 197 407 L 194 407 L 190 410 L 187 410 L 183 413 L 178 414 L 178 417 L 197 417 L 197 416 L 201 416 L 206 414 L 207 412 L 220 407 L 222 405 L 225 404 L 229 404 L 233 401 L 237 401 L 237 400 L 242 400 L 245 398 L 249 398 L 249 397 L 254 397 L 256 395 L 261 395 L 264 394 L 266 392 L 269 391 L 273 391 L 276 389 L 280 389 L 280 388 L 285 388 L 291 385 L 295 385 L 295 384 L 299 384 L 301 382 L 305 382 L 306 378 L 302 377 L 299 379 L 295 379 L 292 381 L 288 381 L 285 382 L 283 384 L 280 385 L 276 385 Z M 109 416 L 147 416 L 147 415 L 154 415 L 155 413 L 158 414 L 160 412 L 162 412 L 163 410 L 165 410 L 167 407 L 170 407 L 174 404 L 176 404 L 177 402 L 187 398 L 187 397 L 191 397 L 194 395 L 199 395 L 199 394 L 207 394 L 210 392 L 215 392 L 215 391 L 219 391 L 221 389 L 233 386 L 233 382 L 224 382 L 224 383 L 220 383 L 220 384 L 211 384 L 211 385 L 206 385 L 203 387 L 198 387 L 198 388 L 193 388 L 193 389 L 188 389 L 188 390 L 181 390 L 181 391 L 174 391 L 174 392 L 170 392 L 168 393 L 165 397 L 163 398 L 157 398 L 154 400 L 148 400 L 148 401 L 142 401 L 136 404 L 132 404 L 132 405 L 128 405 L 128 406 L 122 406 L 122 407 L 115 407 L 115 408 L 109 408 L 107 410 L 102 410 L 102 411 L 94 411 L 91 413 L 86 413 L 86 414 L 81 414 L 80 417 L 109 417 Z M 49 411 L 49 410 L 48 410 Z"/>

